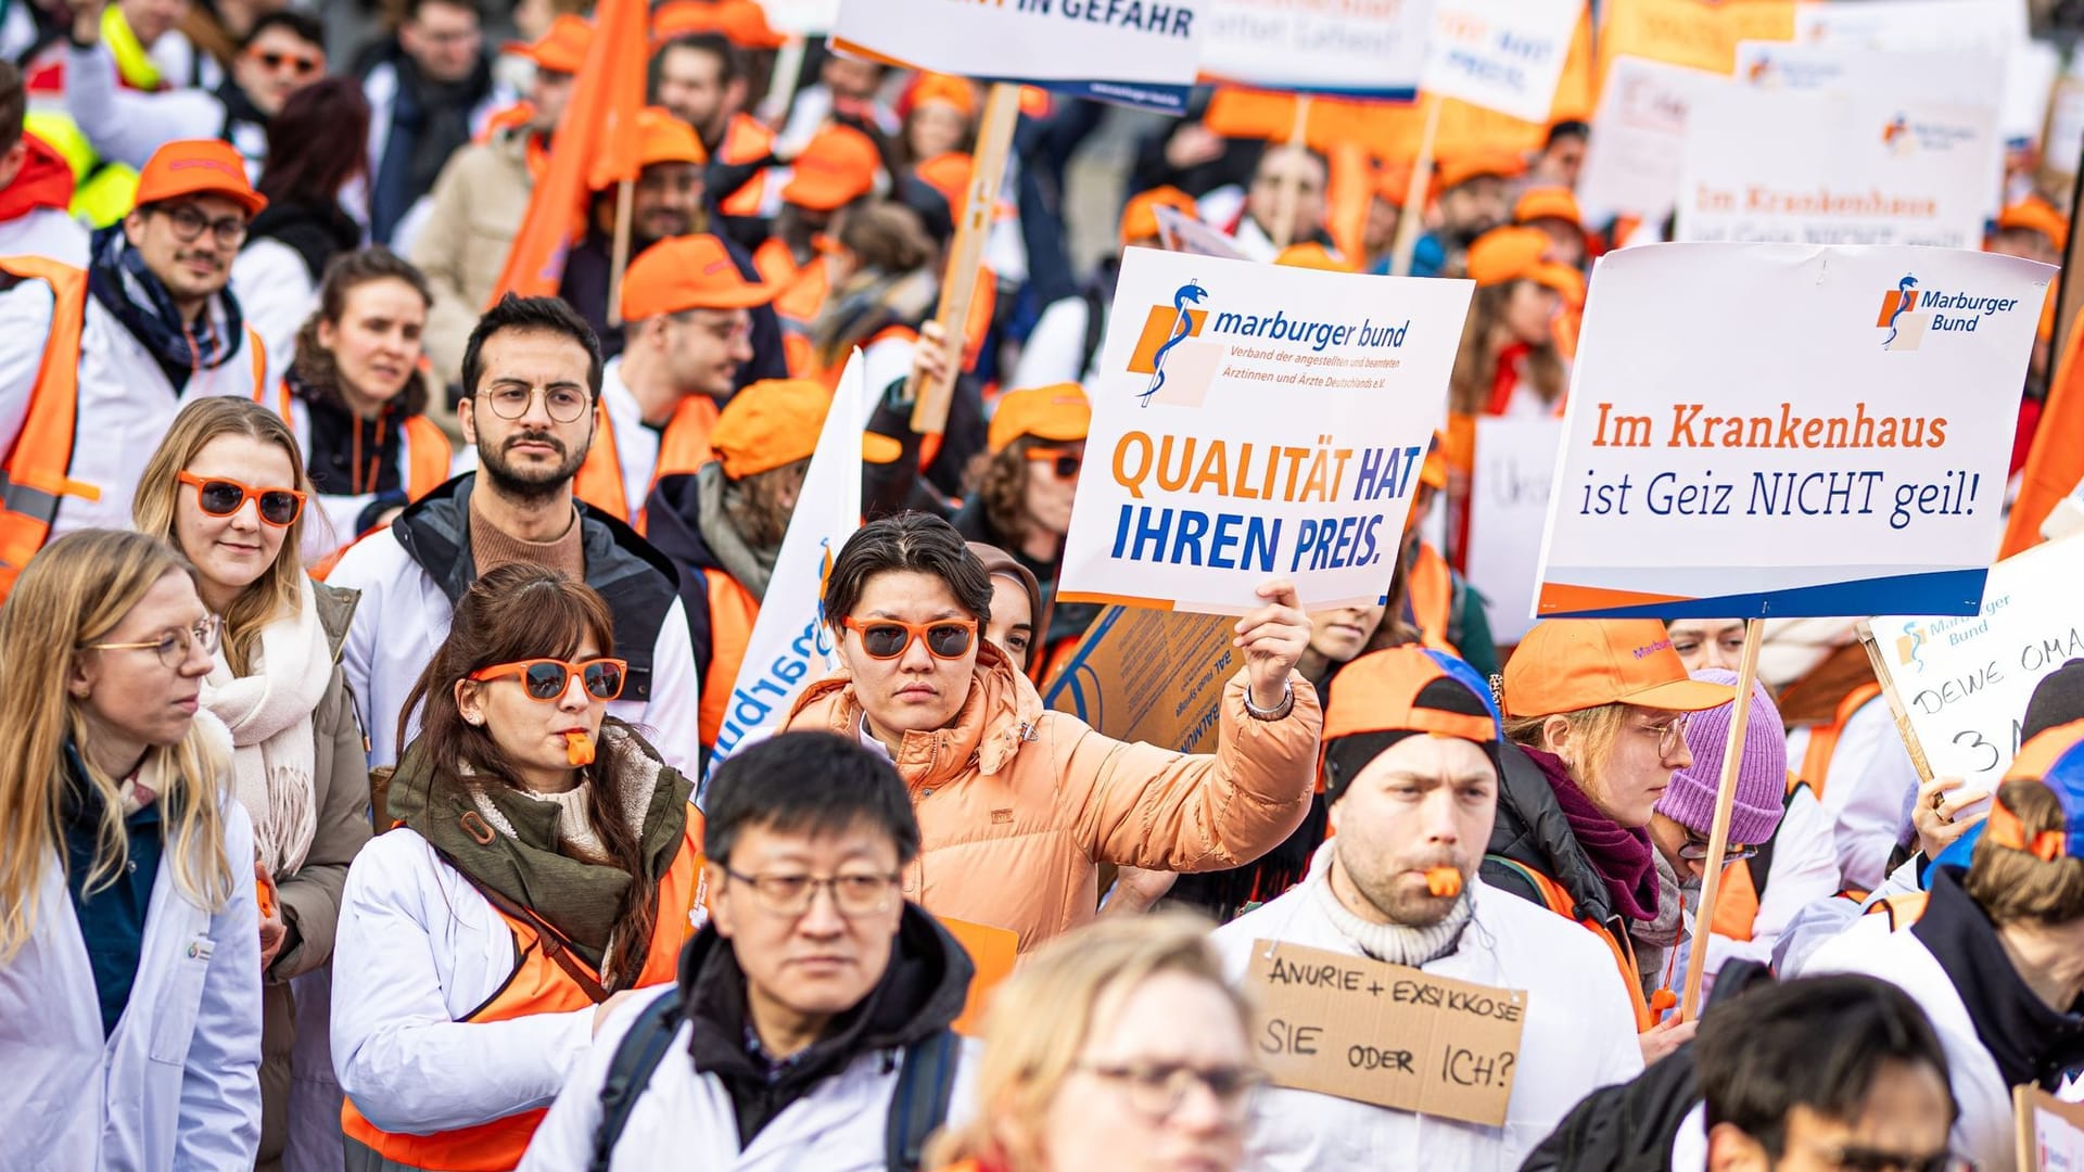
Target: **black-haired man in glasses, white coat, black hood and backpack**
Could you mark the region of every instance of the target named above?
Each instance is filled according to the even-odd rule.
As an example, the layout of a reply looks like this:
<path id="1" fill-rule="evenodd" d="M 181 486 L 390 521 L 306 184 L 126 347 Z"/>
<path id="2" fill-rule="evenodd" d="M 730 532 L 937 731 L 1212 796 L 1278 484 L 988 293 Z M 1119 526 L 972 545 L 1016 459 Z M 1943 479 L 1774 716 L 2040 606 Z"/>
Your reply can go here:
<path id="1" fill-rule="evenodd" d="M 711 922 L 679 982 L 644 991 L 565 1082 L 523 1172 L 869 1172 L 919 1166 L 975 1061 L 950 1024 L 969 955 L 898 890 L 919 820 L 896 770 L 825 732 L 717 770 Z M 967 1107 L 961 1107 L 967 1109 Z"/>

